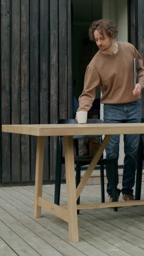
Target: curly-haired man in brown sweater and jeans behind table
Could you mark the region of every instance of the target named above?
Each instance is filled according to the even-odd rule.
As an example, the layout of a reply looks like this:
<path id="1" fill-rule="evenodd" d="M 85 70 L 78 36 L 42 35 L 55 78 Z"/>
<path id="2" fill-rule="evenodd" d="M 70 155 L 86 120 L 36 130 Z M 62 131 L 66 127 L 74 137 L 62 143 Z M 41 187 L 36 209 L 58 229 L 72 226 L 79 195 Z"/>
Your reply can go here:
<path id="1" fill-rule="evenodd" d="M 133 45 L 115 42 L 117 28 L 112 21 L 97 20 L 89 28 L 89 38 L 97 44 L 99 51 L 87 66 L 85 83 L 79 97 L 78 111 L 88 111 L 95 98 L 95 88 L 100 86 L 104 103 L 104 123 L 141 123 L 141 90 L 144 86 L 142 57 Z M 139 63 L 137 84 L 134 88 L 134 58 Z M 140 135 L 124 135 L 124 170 L 122 199 L 134 200 L 133 187 Z M 106 158 L 119 156 L 119 135 L 113 135 L 106 147 Z M 112 183 L 106 167 L 107 193 L 112 201 Z M 118 168 L 117 168 L 118 172 Z M 118 177 L 118 173 L 117 173 Z M 118 184 L 118 178 L 117 178 Z M 121 193 L 117 189 L 118 197 Z"/>

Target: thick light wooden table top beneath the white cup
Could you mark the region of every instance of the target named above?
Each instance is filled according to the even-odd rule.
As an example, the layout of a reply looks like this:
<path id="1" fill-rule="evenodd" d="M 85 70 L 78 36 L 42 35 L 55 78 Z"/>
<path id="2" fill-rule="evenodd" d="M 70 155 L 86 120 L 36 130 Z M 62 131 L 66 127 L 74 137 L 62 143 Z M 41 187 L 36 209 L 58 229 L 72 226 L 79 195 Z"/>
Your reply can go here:
<path id="1" fill-rule="evenodd" d="M 2 131 L 34 136 L 140 134 L 144 123 L 2 125 Z"/>

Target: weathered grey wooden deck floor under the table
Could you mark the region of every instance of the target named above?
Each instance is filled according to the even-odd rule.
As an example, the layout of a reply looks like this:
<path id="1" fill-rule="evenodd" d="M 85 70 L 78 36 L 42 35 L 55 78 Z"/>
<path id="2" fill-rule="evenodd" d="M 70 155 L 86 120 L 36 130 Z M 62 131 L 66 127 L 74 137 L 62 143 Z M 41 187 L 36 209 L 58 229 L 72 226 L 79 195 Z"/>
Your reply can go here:
<path id="1" fill-rule="evenodd" d="M 44 185 L 43 196 L 53 201 L 54 188 Z M 61 203 L 65 200 L 63 184 Z M 100 186 L 87 185 L 81 202 L 100 202 Z M 144 255 L 144 206 L 81 211 L 78 243 L 69 242 L 67 223 L 44 210 L 34 219 L 33 208 L 34 186 L 0 188 L 1 256 Z"/>

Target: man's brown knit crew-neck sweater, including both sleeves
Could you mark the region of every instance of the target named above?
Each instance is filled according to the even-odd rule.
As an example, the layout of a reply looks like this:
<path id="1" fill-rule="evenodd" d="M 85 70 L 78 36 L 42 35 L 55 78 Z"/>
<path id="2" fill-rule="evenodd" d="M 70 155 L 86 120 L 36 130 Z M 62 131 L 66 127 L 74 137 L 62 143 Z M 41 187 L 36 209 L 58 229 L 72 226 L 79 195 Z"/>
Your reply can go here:
<path id="1" fill-rule="evenodd" d="M 139 62 L 138 83 L 144 86 L 143 60 L 139 52 L 130 43 L 117 42 L 118 51 L 109 55 L 98 51 L 89 63 L 85 74 L 85 83 L 79 97 L 79 109 L 88 111 L 95 99 L 95 88 L 100 86 L 101 103 L 121 104 L 136 101 L 140 95 L 133 95 L 134 58 Z"/>

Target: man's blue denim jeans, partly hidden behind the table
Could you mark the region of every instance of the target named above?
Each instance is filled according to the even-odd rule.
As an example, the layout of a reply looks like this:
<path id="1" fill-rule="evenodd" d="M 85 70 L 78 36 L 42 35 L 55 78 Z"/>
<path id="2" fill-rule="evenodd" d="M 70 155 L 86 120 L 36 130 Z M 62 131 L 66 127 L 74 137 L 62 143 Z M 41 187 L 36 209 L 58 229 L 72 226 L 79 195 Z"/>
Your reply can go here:
<path id="1" fill-rule="evenodd" d="M 104 104 L 104 123 L 141 123 L 141 101 L 137 100 L 125 104 Z M 135 172 L 137 166 L 137 149 L 140 135 L 128 134 L 123 136 L 124 140 L 124 166 L 122 180 L 122 194 L 133 193 L 135 184 Z M 106 158 L 117 158 L 119 156 L 119 135 L 113 135 L 106 147 Z M 109 177 L 109 166 L 106 166 L 107 193 L 112 194 L 112 182 Z M 117 164 L 118 185 L 118 164 Z M 118 195 L 121 193 L 117 189 Z"/>

